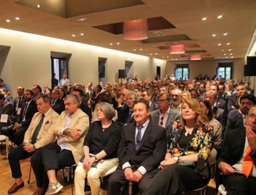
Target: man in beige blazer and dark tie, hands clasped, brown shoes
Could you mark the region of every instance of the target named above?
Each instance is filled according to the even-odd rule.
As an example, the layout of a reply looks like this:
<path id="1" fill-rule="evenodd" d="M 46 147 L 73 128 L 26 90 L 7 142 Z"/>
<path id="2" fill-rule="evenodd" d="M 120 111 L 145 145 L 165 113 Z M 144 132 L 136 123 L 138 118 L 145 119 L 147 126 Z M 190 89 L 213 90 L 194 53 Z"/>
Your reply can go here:
<path id="1" fill-rule="evenodd" d="M 8 190 L 8 194 L 13 194 L 24 186 L 22 172 L 20 170 L 20 160 L 27 159 L 35 155 L 44 145 L 41 143 L 42 137 L 49 133 L 49 128 L 55 124 L 59 114 L 51 109 L 51 99 L 47 95 L 41 95 L 36 100 L 38 112 L 34 114 L 30 126 L 24 137 L 24 144 L 19 145 L 9 153 L 9 165 L 15 184 Z M 44 116 L 43 116 L 44 115 Z"/>

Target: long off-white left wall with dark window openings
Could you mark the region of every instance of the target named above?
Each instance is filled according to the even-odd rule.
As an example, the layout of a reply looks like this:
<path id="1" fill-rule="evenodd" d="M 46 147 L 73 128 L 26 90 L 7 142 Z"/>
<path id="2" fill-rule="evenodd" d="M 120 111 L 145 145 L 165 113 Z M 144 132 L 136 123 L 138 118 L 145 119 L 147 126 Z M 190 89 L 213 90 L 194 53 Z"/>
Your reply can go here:
<path id="1" fill-rule="evenodd" d="M 110 83 L 119 82 L 118 70 L 125 69 L 125 61 L 133 61 L 134 75 L 139 79 L 153 79 L 156 67 L 160 66 L 163 73 L 166 64 L 146 56 L 3 28 L 0 28 L 0 46 L 11 47 L 0 67 L 0 77 L 11 87 L 14 96 L 19 85 L 25 89 L 31 89 L 34 84 L 51 86 L 51 51 L 72 54 L 69 79 L 71 83 L 85 85 L 88 81 L 98 83 L 98 57 L 107 58 L 105 75 Z"/>

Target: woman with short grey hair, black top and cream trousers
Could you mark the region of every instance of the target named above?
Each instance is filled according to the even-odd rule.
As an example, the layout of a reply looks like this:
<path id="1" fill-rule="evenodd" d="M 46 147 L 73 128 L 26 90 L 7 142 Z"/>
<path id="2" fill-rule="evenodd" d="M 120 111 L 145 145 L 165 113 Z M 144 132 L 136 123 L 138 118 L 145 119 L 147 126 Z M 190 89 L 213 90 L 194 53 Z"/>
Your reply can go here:
<path id="1" fill-rule="evenodd" d="M 87 176 L 91 193 L 100 194 L 100 177 L 118 165 L 117 147 L 121 138 L 120 126 L 111 120 L 115 109 L 106 102 L 96 104 L 99 120 L 90 124 L 84 139 L 84 156 L 75 169 L 75 194 L 84 195 Z"/>

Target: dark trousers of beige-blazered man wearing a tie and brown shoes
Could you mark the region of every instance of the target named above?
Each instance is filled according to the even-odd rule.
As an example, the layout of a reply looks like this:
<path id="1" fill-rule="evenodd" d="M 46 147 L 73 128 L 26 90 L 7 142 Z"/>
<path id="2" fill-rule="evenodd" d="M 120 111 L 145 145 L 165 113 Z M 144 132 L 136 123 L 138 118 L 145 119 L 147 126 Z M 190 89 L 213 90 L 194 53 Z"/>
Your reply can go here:
<path id="1" fill-rule="evenodd" d="M 28 153 L 27 151 L 24 151 L 23 145 L 19 145 L 15 149 L 11 150 L 8 156 L 9 165 L 11 167 L 11 176 L 13 178 L 22 177 L 22 171 L 20 170 L 20 160 L 27 159 L 31 156 L 37 158 L 39 151 L 40 149 L 34 153 Z"/>

